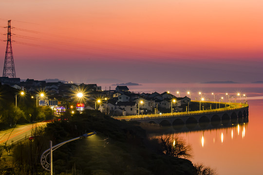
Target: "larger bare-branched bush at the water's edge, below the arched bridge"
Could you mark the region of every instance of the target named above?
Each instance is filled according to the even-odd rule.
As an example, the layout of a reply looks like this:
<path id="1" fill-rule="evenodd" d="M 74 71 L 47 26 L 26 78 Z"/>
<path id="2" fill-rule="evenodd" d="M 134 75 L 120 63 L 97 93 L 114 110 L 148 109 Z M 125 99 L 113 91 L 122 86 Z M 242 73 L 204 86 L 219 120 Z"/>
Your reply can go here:
<path id="1" fill-rule="evenodd" d="M 176 134 L 156 136 L 164 154 L 173 157 L 191 157 L 191 147 L 185 140 Z"/>

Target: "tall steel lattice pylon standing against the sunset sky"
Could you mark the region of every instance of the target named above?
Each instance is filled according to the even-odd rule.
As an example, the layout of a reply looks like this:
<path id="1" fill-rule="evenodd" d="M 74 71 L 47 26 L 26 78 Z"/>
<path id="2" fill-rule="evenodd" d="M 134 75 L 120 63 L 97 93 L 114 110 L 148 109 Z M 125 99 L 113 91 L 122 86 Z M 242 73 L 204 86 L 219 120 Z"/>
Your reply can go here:
<path id="1" fill-rule="evenodd" d="M 8 21 L 7 45 L 4 58 L 3 77 L 16 78 L 16 70 L 11 45 L 11 20 Z"/>

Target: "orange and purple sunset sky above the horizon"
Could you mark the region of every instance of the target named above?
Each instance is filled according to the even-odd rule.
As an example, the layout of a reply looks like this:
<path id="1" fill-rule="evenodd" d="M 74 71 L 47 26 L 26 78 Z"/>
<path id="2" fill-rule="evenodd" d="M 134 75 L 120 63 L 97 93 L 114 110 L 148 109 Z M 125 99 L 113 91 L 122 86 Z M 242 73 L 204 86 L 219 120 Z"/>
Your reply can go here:
<path id="1" fill-rule="evenodd" d="M 84 83 L 263 81 L 262 0 L 1 0 L 17 77 Z"/>

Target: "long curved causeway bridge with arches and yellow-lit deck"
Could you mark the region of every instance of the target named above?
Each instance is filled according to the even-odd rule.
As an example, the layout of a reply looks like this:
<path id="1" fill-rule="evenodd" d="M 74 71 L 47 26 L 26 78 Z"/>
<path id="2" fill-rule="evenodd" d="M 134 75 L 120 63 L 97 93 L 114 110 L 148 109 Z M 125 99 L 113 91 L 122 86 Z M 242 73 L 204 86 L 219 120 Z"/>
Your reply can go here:
<path id="1" fill-rule="evenodd" d="M 203 102 L 213 104 L 214 102 Z M 189 123 L 205 123 L 216 121 L 248 121 L 247 103 L 221 103 L 226 106 L 218 109 L 198 110 L 189 112 L 174 112 L 164 114 L 131 115 L 113 117 L 118 120 L 156 123 L 160 125 L 177 125 Z"/>

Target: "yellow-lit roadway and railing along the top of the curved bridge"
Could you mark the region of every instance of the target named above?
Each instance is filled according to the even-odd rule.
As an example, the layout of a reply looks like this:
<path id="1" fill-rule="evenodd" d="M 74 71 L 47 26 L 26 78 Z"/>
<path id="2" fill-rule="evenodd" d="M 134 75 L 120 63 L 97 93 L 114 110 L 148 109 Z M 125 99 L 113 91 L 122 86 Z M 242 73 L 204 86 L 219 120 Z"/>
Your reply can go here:
<path id="1" fill-rule="evenodd" d="M 191 101 L 191 102 L 198 102 L 199 101 Z M 202 103 L 209 103 L 213 104 L 216 102 L 202 102 Z M 186 112 L 173 112 L 173 113 L 163 113 L 163 114 L 143 114 L 143 115 L 130 115 L 130 116 L 115 116 L 114 119 L 130 119 L 130 120 L 140 120 L 145 118 L 164 118 L 164 117 L 181 117 L 181 116 L 189 116 L 189 115 L 200 115 L 200 114 L 211 114 L 211 113 L 218 113 L 218 112 L 229 112 L 234 111 L 237 109 L 245 108 L 248 104 L 242 103 L 220 103 L 222 105 L 228 105 L 226 107 L 218 108 L 218 109 L 207 109 L 207 110 L 197 110 L 197 111 L 186 111 Z"/>

